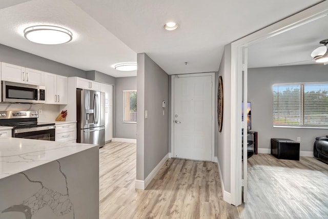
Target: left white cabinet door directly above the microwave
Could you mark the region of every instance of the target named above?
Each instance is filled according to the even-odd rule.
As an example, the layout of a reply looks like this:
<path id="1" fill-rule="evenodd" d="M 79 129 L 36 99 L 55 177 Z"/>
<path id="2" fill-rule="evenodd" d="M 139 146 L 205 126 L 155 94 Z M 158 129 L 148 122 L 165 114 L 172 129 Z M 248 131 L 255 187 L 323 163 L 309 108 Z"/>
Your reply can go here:
<path id="1" fill-rule="evenodd" d="M 1 63 L 2 81 L 25 83 L 25 68 L 8 63 Z"/>

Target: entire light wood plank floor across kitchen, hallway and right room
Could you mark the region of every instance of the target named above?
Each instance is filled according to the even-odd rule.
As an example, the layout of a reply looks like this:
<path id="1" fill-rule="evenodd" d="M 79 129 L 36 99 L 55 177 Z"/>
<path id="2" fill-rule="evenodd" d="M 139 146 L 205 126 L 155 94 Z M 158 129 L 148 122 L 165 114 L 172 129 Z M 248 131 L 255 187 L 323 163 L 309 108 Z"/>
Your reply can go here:
<path id="1" fill-rule="evenodd" d="M 328 165 L 312 157 L 249 158 L 247 203 L 223 201 L 212 162 L 169 159 L 146 190 L 135 190 L 136 145 L 99 149 L 100 218 L 328 218 Z"/>

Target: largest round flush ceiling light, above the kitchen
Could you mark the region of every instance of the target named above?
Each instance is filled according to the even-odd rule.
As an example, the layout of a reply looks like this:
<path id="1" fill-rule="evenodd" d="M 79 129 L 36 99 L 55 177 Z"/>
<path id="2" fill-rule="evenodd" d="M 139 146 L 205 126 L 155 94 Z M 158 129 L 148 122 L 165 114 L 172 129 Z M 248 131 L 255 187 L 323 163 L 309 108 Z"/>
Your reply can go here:
<path id="1" fill-rule="evenodd" d="M 24 30 L 24 36 L 29 41 L 38 44 L 65 44 L 72 40 L 72 32 L 61 27 L 36 25 Z"/>

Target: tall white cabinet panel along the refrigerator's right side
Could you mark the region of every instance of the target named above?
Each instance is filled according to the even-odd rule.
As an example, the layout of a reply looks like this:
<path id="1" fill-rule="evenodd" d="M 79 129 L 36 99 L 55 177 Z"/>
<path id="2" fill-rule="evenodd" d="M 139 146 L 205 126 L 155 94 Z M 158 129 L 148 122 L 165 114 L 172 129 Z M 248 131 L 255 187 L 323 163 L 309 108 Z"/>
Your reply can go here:
<path id="1" fill-rule="evenodd" d="M 105 142 L 113 138 L 113 86 L 100 83 L 100 91 L 105 92 Z"/>

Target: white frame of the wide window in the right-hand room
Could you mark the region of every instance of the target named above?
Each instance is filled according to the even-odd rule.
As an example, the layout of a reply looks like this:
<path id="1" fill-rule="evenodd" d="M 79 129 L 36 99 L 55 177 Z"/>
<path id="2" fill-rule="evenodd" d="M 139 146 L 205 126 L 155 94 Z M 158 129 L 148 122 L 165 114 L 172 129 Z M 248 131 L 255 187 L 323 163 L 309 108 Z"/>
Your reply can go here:
<path id="1" fill-rule="evenodd" d="M 275 125 L 274 124 L 274 86 L 300 86 L 300 124 L 301 125 Z M 301 129 L 328 129 L 327 125 L 321 125 L 321 126 L 313 126 L 313 125 L 304 125 L 304 86 L 305 85 L 327 85 L 328 82 L 298 82 L 298 83 L 277 83 L 273 84 L 271 88 L 271 94 L 272 94 L 272 124 L 273 128 L 301 128 Z"/>

